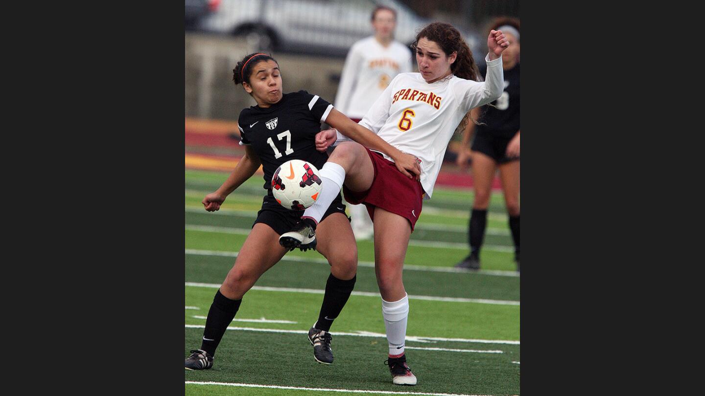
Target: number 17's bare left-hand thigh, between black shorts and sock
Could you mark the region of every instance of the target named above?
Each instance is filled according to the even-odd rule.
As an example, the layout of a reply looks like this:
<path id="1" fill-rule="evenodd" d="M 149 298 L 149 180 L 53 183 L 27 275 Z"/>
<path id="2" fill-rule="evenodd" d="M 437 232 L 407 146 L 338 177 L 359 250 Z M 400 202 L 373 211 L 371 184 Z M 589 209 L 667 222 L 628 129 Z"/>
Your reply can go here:
<path id="1" fill-rule="evenodd" d="M 286 249 L 279 245 L 279 234 L 275 230 L 263 223 L 255 224 L 221 285 L 221 293 L 229 299 L 243 298 L 257 279 L 285 253 Z"/>

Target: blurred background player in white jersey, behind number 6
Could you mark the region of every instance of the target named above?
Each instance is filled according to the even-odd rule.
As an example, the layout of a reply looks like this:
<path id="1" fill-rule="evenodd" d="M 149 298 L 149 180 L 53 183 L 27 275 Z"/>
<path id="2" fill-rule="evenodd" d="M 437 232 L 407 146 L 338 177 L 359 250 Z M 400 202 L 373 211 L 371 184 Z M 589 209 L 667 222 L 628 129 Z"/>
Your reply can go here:
<path id="1" fill-rule="evenodd" d="M 393 39 L 395 27 L 396 11 L 377 6 L 372 11 L 374 36 L 353 44 L 345 58 L 335 105 L 356 123 L 362 120 L 392 78 L 412 71 L 409 49 Z M 350 205 L 350 218 L 355 238 L 364 240 L 372 236 L 372 219 L 362 204 Z"/>

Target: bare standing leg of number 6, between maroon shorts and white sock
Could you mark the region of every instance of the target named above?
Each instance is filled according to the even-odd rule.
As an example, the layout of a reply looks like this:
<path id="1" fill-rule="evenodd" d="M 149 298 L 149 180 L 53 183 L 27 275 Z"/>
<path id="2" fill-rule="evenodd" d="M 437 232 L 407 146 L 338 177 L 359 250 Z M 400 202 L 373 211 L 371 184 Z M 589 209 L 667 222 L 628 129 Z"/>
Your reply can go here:
<path id="1" fill-rule="evenodd" d="M 374 272 L 386 301 L 399 301 L 406 295 L 402 270 L 410 237 L 411 225 L 406 218 L 374 208 Z"/>

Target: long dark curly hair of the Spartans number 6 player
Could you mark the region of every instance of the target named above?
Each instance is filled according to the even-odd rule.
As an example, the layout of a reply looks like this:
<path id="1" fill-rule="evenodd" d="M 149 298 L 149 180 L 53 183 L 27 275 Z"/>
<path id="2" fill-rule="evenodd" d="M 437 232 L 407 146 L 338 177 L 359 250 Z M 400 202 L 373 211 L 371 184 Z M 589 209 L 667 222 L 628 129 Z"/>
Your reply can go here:
<path id="1" fill-rule="evenodd" d="M 412 47 L 416 48 L 419 39 L 426 39 L 436 42 L 443 49 L 446 56 L 457 52 L 455 62 L 450 65 L 450 71 L 459 78 L 465 80 L 482 81 L 477 64 L 472 58 L 472 51 L 467 47 L 465 39 L 462 38 L 458 29 L 448 23 L 434 22 L 424 27 L 417 35 Z"/>

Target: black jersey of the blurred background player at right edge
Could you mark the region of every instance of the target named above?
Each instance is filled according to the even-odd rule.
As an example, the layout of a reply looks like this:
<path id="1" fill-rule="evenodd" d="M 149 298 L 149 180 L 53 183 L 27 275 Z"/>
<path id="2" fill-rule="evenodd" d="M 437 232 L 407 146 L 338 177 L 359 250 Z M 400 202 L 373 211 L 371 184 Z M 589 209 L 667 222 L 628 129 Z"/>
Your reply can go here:
<path id="1" fill-rule="evenodd" d="M 483 72 L 484 73 L 484 72 Z M 492 106 L 482 106 L 478 133 L 489 133 L 499 137 L 513 137 L 519 127 L 519 63 L 504 70 L 504 92 Z"/>

